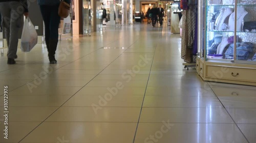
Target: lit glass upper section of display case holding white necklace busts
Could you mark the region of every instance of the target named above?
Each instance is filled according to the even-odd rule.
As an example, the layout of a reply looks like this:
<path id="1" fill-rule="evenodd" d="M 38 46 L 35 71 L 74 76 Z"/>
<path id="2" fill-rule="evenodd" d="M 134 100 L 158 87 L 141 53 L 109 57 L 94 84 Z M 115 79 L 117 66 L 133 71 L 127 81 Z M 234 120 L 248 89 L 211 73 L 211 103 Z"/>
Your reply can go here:
<path id="1" fill-rule="evenodd" d="M 256 64 L 256 1 L 208 0 L 206 5 L 206 60 Z"/>

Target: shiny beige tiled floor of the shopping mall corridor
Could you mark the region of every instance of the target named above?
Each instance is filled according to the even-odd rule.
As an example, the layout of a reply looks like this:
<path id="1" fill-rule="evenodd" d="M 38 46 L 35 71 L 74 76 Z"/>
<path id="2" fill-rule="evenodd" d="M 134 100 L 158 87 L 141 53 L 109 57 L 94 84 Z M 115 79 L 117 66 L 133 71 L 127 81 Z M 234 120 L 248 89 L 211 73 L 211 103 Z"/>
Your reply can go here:
<path id="1" fill-rule="evenodd" d="M 60 41 L 57 65 L 39 44 L 16 65 L 0 57 L 0 142 L 256 142 L 256 88 L 202 81 L 183 68 L 180 41 L 135 24 Z"/>

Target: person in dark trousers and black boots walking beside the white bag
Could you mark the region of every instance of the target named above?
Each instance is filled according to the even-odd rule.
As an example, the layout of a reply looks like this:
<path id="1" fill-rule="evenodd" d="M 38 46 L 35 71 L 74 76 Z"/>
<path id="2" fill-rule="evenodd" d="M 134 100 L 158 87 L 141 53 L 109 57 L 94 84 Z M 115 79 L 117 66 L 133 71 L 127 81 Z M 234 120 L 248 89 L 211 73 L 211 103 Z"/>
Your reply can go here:
<path id="1" fill-rule="evenodd" d="M 45 23 L 45 41 L 50 64 L 57 64 L 55 52 L 58 45 L 58 28 L 60 17 L 58 15 L 59 0 L 37 0 L 42 19 Z M 70 4 L 70 0 L 65 0 Z"/>

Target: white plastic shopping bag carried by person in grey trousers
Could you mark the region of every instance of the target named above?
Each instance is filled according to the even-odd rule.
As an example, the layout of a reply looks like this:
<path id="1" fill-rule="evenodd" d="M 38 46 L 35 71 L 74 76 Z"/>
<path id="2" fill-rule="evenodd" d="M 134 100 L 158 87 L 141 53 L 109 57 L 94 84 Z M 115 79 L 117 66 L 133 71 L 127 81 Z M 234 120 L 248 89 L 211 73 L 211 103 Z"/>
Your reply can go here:
<path id="1" fill-rule="evenodd" d="M 20 49 L 29 52 L 37 44 L 37 33 L 31 20 L 27 17 L 22 31 L 22 43 Z"/>

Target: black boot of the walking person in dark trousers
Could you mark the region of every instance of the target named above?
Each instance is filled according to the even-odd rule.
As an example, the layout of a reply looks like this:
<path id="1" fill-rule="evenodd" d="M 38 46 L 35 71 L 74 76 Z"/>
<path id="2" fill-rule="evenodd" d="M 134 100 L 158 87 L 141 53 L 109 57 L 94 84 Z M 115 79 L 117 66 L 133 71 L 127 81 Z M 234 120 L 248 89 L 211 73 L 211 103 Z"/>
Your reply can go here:
<path id="1" fill-rule="evenodd" d="M 49 61 L 50 64 L 57 64 L 57 61 L 55 60 L 55 51 L 57 49 L 58 45 L 58 39 L 50 39 L 49 40 Z"/>

